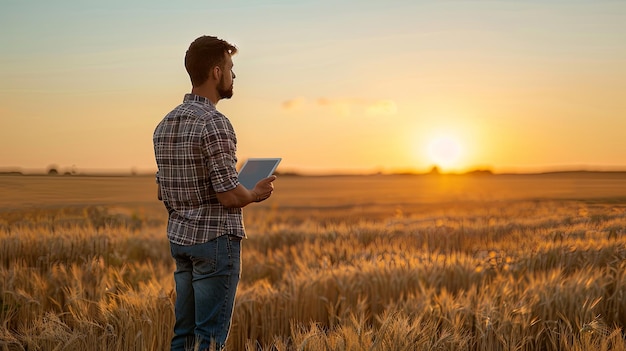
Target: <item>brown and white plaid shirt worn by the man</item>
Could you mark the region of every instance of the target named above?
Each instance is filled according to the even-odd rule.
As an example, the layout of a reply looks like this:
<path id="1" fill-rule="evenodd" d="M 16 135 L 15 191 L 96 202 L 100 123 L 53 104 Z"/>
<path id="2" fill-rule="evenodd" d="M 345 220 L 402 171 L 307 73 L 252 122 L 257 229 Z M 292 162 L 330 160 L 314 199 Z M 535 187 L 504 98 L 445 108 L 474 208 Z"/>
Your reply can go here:
<path id="1" fill-rule="evenodd" d="M 168 239 L 193 245 L 225 234 L 245 237 L 241 208 L 226 208 L 216 197 L 239 184 L 228 118 L 208 99 L 187 94 L 158 124 L 153 142 Z"/>

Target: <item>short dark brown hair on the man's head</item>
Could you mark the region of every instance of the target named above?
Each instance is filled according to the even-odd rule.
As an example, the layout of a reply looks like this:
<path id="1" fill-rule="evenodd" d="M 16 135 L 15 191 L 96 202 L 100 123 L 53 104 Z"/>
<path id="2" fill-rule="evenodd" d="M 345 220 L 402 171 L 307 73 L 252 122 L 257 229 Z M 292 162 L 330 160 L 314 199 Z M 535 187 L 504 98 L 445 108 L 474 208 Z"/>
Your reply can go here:
<path id="1" fill-rule="evenodd" d="M 234 55 L 237 48 L 217 37 L 201 36 L 194 40 L 185 54 L 185 68 L 194 87 L 202 85 L 209 78 L 215 66 L 224 67 L 224 54 Z"/>

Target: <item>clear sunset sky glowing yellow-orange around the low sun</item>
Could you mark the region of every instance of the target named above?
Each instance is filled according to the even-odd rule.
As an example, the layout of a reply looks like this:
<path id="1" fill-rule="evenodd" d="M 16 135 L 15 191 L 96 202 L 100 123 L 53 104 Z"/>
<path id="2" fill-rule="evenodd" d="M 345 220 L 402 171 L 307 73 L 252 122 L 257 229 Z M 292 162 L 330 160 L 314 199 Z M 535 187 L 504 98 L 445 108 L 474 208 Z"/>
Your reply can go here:
<path id="1" fill-rule="evenodd" d="M 153 172 L 201 35 L 240 161 L 304 174 L 626 169 L 626 1 L 0 0 L 0 169 Z"/>

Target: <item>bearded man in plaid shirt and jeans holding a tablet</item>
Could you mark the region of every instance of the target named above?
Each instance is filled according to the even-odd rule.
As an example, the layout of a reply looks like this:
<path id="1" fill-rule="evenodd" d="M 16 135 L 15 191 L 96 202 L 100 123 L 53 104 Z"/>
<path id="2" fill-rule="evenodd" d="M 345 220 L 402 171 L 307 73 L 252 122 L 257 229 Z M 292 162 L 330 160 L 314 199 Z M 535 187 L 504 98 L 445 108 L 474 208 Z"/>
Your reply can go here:
<path id="1" fill-rule="evenodd" d="M 235 131 L 216 110 L 233 95 L 237 48 L 211 36 L 185 55 L 191 94 L 154 131 L 159 199 L 169 213 L 167 236 L 176 261 L 172 350 L 223 349 L 240 277 L 246 236 L 242 208 L 266 200 L 271 176 L 248 190 L 237 180 Z"/>

